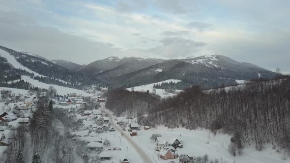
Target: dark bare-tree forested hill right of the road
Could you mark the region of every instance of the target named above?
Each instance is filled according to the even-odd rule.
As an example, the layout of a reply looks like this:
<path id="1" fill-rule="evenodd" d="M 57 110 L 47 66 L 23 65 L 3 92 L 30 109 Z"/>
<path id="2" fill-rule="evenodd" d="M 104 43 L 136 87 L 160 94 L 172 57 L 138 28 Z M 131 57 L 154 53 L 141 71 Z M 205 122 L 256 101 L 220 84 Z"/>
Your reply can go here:
<path id="1" fill-rule="evenodd" d="M 290 150 L 290 79 L 207 91 L 193 86 L 176 97 L 157 100 L 148 93 L 118 89 L 109 93 L 106 107 L 116 115 L 141 117 L 149 112 L 142 119 L 150 126 L 202 127 L 213 133 L 221 129 L 240 142 L 255 142 L 257 150 L 265 142 Z"/>

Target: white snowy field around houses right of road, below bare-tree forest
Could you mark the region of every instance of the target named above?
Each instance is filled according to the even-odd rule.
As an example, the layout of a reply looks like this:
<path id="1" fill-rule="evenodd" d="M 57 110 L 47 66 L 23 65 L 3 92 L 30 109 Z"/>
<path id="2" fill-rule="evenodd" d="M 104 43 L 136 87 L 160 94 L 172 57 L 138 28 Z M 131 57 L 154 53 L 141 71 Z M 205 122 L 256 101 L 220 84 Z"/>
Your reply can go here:
<path id="1" fill-rule="evenodd" d="M 209 159 L 219 159 L 227 161 L 228 163 L 289 163 L 289 160 L 283 160 L 283 153 L 277 153 L 272 149 L 271 144 L 265 145 L 262 151 L 255 149 L 255 144 L 246 144 L 243 149 L 242 156 L 233 157 L 228 152 L 231 136 L 228 134 L 217 134 L 214 136 L 209 130 L 187 130 L 184 128 L 168 129 L 164 126 L 158 126 L 156 129 L 149 129 L 145 131 L 142 129 L 137 136 L 132 139 L 140 144 L 140 146 L 154 158 L 158 163 L 168 163 L 159 159 L 157 151 L 155 151 L 155 142 L 150 141 L 149 137 L 152 134 L 160 134 L 164 137 L 177 138 L 182 141 L 183 148 L 177 149 L 177 153 L 187 154 L 189 156 L 203 156 L 208 154 Z M 207 143 L 208 142 L 208 143 Z M 176 161 L 177 162 L 177 161 Z M 176 163 L 175 162 L 175 163 Z"/>

